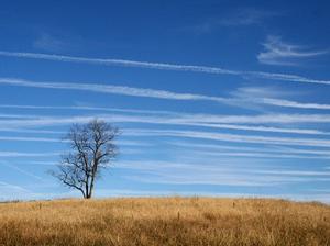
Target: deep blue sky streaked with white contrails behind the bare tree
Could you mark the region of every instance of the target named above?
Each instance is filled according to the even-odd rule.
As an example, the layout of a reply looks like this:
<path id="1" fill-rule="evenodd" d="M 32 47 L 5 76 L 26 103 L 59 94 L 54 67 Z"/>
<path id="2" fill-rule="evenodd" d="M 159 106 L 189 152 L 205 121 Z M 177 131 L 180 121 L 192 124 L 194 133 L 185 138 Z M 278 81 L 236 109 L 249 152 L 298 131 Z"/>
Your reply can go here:
<path id="1" fill-rule="evenodd" d="M 47 175 L 73 123 L 122 131 L 97 197 L 329 202 L 327 1 L 2 1 L 0 199 Z"/>

